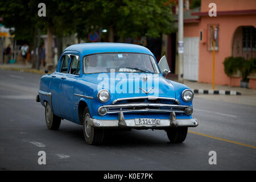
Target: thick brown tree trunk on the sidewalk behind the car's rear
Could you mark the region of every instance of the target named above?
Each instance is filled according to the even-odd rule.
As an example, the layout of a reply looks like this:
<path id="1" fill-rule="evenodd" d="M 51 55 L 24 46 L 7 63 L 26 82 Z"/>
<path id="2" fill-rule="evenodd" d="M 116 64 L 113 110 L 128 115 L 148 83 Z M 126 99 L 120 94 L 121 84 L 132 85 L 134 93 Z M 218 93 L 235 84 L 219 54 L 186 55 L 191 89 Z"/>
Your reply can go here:
<path id="1" fill-rule="evenodd" d="M 52 59 L 52 27 L 47 28 L 47 53 L 46 53 L 46 69 L 49 71 L 53 68 L 53 59 Z"/>

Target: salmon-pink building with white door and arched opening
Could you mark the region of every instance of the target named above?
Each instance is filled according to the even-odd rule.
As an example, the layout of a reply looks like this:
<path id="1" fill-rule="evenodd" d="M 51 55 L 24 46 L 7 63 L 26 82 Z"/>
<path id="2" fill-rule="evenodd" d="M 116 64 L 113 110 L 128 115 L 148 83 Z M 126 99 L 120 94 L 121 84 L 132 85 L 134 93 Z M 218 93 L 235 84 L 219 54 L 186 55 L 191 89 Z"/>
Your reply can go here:
<path id="1" fill-rule="evenodd" d="M 208 14 L 210 3 L 217 5 L 216 17 Z M 217 27 L 215 84 L 240 86 L 241 75 L 226 76 L 222 63 L 229 56 L 256 57 L 256 1 L 201 0 L 201 8 L 184 10 L 184 79 L 212 83 L 213 25 Z M 171 44 L 174 39 L 175 35 L 169 35 L 167 41 L 167 59 L 172 67 L 177 62 Z M 249 78 L 249 88 L 256 89 L 256 74 Z"/>

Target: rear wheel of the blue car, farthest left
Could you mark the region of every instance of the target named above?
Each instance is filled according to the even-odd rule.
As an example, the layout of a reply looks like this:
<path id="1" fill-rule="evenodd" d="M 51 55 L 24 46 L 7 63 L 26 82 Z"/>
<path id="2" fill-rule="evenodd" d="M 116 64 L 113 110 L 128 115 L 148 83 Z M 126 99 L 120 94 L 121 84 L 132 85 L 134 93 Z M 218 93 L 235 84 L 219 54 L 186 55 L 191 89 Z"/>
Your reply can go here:
<path id="1" fill-rule="evenodd" d="M 59 129 L 61 118 L 53 114 L 52 107 L 51 105 L 49 105 L 49 102 L 46 103 L 45 116 L 46 116 L 46 125 L 49 130 Z"/>

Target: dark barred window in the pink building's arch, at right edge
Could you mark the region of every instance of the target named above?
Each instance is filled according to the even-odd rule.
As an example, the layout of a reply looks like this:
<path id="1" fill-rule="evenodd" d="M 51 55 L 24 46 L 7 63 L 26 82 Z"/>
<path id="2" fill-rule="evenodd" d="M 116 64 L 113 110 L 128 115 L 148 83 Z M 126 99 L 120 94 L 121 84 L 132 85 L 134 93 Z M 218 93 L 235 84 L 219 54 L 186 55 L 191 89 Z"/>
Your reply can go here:
<path id="1" fill-rule="evenodd" d="M 255 51 L 255 27 L 243 27 L 243 51 Z"/>

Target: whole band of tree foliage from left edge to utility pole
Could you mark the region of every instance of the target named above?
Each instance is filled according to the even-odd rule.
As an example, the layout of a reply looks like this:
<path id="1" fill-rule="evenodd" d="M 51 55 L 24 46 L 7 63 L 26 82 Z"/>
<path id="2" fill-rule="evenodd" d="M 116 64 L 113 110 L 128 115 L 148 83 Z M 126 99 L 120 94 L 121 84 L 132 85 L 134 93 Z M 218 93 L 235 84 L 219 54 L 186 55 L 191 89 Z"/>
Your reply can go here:
<path id="1" fill-rule="evenodd" d="M 57 36 L 77 32 L 81 38 L 100 28 L 113 27 L 121 37 L 159 37 L 174 31 L 172 9 L 168 0 L 48 0 L 46 17 L 38 16 L 39 0 L 0 2 L 0 16 L 7 27 L 15 27 L 16 39 L 32 39 L 32 31 L 40 27 L 46 33 L 52 27 Z"/>

